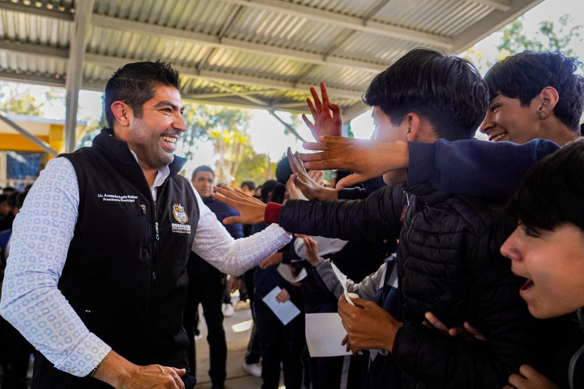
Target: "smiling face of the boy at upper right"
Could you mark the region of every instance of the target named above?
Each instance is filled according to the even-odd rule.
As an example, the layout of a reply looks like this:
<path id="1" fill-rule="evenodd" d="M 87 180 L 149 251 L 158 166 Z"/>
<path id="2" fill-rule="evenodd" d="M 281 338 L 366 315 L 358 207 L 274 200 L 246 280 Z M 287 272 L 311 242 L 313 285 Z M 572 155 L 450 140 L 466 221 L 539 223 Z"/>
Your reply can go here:
<path id="1" fill-rule="evenodd" d="M 481 132 L 489 136 L 492 142 L 527 143 L 540 136 L 540 116 L 537 113 L 537 101 L 533 99 L 529 106 L 522 106 L 519 99 L 512 99 L 502 94 L 489 104 Z"/>

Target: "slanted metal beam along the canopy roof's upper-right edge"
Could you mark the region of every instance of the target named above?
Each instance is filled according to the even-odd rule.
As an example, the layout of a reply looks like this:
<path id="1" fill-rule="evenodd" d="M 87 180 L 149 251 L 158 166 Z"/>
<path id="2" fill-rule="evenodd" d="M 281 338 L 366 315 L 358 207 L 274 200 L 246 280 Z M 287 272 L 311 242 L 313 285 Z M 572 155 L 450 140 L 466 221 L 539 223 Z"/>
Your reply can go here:
<path id="1" fill-rule="evenodd" d="M 486 17 L 472 24 L 466 30 L 453 38 L 452 50 L 461 52 L 467 50 L 482 38 L 488 37 L 496 30 L 499 30 L 509 22 L 517 19 L 543 0 L 513 0 L 509 10 L 505 12 L 493 10 Z"/>

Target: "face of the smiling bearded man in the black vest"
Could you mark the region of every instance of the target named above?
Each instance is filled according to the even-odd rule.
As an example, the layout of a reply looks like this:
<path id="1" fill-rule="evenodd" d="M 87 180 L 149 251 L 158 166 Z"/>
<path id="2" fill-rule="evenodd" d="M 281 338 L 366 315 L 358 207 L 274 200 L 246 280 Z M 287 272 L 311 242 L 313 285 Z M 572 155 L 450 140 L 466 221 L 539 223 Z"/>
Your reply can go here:
<path id="1" fill-rule="evenodd" d="M 124 141 L 141 163 L 160 168 L 174 159 L 175 143 L 186 131 L 186 124 L 180 92 L 162 85 L 155 91 L 154 97 L 144 103 L 141 116 L 134 116 Z"/>

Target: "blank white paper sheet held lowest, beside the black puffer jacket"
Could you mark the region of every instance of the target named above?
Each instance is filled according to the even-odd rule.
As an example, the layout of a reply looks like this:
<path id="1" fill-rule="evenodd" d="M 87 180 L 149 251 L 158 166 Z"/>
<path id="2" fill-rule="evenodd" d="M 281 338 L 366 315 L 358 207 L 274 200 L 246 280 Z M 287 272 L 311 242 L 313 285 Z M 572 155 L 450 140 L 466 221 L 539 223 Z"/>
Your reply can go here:
<path id="1" fill-rule="evenodd" d="M 306 342 L 311 357 L 350 355 L 342 346 L 347 331 L 338 313 L 307 313 Z"/>

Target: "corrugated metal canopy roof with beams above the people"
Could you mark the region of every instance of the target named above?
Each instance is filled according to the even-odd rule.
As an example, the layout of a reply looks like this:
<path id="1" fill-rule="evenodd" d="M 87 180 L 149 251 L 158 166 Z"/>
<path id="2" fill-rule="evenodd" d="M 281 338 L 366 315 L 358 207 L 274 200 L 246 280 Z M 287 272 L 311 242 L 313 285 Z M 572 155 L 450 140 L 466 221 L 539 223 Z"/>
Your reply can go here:
<path id="1" fill-rule="evenodd" d="M 346 121 L 376 73 L 406 51 L 461 52 L 541 0 L 0 0 L 0 79 L 80 89 L 127 62 L 164 59 L 186 100 L 306 110 L 324 80 Z"/>

